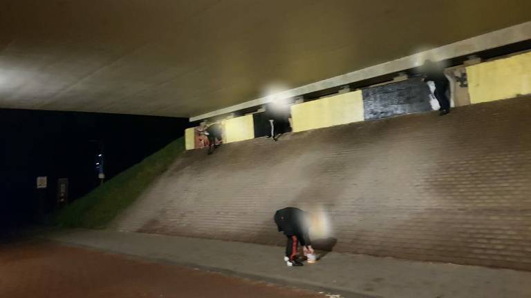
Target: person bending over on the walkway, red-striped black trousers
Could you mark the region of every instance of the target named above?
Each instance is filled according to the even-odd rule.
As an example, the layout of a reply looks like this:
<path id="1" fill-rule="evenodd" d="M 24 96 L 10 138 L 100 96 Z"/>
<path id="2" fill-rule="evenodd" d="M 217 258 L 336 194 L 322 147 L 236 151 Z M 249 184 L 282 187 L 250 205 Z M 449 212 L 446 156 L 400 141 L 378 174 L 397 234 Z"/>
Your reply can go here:
<path id="1" fill-rule="evenodd" d="M 308 212 L 293 207 L 283 208 L 274 213 L 274 223 L 277 224 L 279 232 L 288 237 L 284 257 L 288 266 L 303 266 L 295 259 L 299 244 L 303 247 L 304 255 L 314 252 L 308 235 L 309 217 Z"/>

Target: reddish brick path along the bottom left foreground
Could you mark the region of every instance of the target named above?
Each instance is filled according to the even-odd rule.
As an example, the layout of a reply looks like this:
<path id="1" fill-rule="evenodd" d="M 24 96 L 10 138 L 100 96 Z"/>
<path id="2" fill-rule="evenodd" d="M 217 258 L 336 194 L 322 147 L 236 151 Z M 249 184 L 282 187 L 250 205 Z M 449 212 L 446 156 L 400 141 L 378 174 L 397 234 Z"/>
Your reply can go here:
<path id="1" fill-rule="evenodd" d="M 108 252 L 41 241 L 0 245 L 2 298 L 325 297 Z"/>

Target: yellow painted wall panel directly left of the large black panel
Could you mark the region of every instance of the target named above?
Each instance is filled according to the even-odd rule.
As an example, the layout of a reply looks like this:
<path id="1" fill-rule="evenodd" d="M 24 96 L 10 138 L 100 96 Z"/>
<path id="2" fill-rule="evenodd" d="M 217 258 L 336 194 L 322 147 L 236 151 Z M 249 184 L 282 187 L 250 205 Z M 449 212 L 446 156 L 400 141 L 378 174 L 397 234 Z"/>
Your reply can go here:
<path id="1" fill-rule="evenodd" d="M 293 105 L 291 117 L 294 132 L 363 121 L 362 91 Z"/>

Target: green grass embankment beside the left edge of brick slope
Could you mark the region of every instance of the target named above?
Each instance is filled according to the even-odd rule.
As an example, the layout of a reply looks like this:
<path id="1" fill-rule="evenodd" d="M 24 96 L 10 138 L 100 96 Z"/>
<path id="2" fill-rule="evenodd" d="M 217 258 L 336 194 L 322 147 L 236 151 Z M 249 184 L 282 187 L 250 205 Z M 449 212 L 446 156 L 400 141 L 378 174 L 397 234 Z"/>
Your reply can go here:
<path id="1" fill-rule="evenodd" d="M 57 211 L 53 222 L 64 227 L 105 228 L 184 151 L 181 137 Z"/>

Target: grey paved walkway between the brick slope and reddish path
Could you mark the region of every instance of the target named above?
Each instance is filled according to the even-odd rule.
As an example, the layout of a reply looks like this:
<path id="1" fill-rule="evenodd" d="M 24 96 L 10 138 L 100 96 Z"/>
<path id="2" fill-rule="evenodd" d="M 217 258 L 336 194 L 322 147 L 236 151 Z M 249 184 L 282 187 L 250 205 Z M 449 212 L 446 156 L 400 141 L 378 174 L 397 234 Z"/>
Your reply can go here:
<path id="1" fill-rule="evenodd" d="M 531 272 L 515 270 L 335 252 L 317 264 L 288 268 L 282 260 L 283 248 L 274 246 L 109 230 L 61 230 L 42 237 L 343 297 L 531 297 Z"/>

